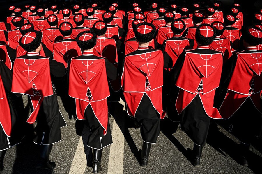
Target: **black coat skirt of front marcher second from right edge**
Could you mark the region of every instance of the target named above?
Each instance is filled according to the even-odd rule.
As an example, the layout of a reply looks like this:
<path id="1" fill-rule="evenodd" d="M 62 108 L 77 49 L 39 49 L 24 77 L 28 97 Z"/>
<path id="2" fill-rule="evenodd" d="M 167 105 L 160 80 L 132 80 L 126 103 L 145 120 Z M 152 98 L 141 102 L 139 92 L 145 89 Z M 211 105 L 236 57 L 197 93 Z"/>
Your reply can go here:
<path id="1" fill-rule="evenodd" d="M 181 116 L 182 130 L 195 144 L 204 146 L 211 118 L 206 115 L 199 95 L 182 111 Z"/>

